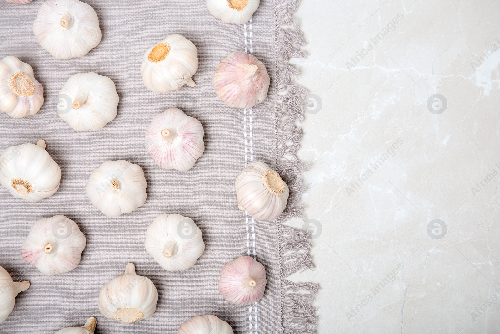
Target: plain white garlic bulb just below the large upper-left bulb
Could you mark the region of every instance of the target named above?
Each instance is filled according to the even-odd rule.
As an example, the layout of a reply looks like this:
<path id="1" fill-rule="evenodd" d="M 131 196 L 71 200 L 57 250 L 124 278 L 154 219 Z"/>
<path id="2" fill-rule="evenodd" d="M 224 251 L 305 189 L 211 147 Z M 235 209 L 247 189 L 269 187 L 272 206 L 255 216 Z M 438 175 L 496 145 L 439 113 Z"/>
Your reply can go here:
<path id="1" fill-rule="evenodd" d="M 59 92 L 57 113 L 77 131 L 102 129 L 116 117 L 117 110 L 113 81 L 97 73 L 77 73 Z"/>

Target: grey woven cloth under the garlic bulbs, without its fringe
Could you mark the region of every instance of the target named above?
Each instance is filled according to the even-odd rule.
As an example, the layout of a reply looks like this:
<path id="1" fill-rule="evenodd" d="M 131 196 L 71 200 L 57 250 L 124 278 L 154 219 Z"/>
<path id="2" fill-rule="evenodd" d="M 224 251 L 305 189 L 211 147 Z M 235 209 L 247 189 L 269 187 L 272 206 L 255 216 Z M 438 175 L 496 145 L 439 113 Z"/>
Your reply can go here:
<path id="1" fill-rule="evenodd" d="M 14 280 L 31 282 L 17 296 L 0 332 L 53 333 L 81 326 L 94 316 L 96 333 L 176 333 L 182 322 L 199 314 L 220 317 L 235 333 L 281 332 L 277 224 L 246 216 L 237 208 L 234 190 L 245 162 L 276 165 L 273 3 L 261 1 L 251 23 L 231 25 L 212 17 L 201 0 L 85 2 L 99 17 L 102 40 L 84 57 L 58 60 L 38 45 L 32 32 L 41 1 L 28 5 L 0 1 L 0 59 L 15 56 L 31 65 L 45 98 L 34 116 L 13 119 L 0 114 L 0 151 L 43 139 L 62 171 L 59 190 L 37 203 L 16 199 L 0 188 L 0 265 Z M 184 36 L 198 50 L 196 87 L 153 93 L 142 83 L 142 55 L 171 34 Z M 271 77 L 267 99 L 246 112 L 223 104 L 211 84 L 219 61 L 245 47 Z M 101 130 L 74 131 L 57 115 L 57 96 L 70 76 L 87 72 L 113 80 L 118 114 Z M 195 117 L 204 128 L 205 151 L 184 172 L 159 168 L 143 146 L 152 117 L 170 107 Z M 147 200 L 132 213 L 107 217 L 90 203 L 85 184 L 102 162 L 120 159 L 144 170 Z M 165 271 L 145 251 L 146 228 L 161 213 L 188 216 L 201 229 L 206 248 L 192 268 Z M 24 262 L 20 247 L 34 221 L 56 214 L 74 220 L 87 244 L 74 270 L 45 276 Z M 228 304 L 217 288 L 220 269 L 247 254 L 255 254 L 266 268 L 264 296 L 257 304 Z M 100 314 L 97 296 L 107 281 L 123 274 L 127 262 L 154 282 L 159 299 L 153 316 L 122 324 Z"/>

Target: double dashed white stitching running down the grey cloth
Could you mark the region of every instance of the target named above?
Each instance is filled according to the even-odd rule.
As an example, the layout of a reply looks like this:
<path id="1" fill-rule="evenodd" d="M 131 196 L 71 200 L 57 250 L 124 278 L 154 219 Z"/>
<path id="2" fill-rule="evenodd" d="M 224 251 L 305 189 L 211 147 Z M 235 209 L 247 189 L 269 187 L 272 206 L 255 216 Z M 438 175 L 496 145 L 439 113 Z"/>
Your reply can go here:
<path id="1" fill-rule="evenodd" d="M 250 18 L 250 21 L 249 21 L 249 24 L 248 24 L 248 27 L 246 26 L 246 23 L 243 25 L 243 28 L 244 28 L 244 43 L 245 43 L 245 52 L 248 53 L 248 39 L 247 39 L 247 31 L 246 29 L 248 28 L 248 35 L 250 37 L 250 54 L 253 53 L 253 39 L 252 39 L 252 24 L 251 24 L 251 21 L 252 21 L 252 18 Z M 248 141 L 247 141 L 247 129 L 246 129 L 246 109 L 243 110 L 243 113 L 244 113 L 244 116 L 243 116 L 243 127 L 244 127 L 244 139 L 245 139 L 245 167 L 246 165 L 248 165 Z M 253 121 L 253 110 L 250 108 L 249 109 L 249 116 L 248 116 L 248 120 L 249 120 L 249 128 L 250 128 L 250 161 L 253 161 L 253 124 L 252 124 L 252 121 Z M 248 256 L 250 256 L 250 233 L 249 233 L 249 230 L 248 230 L 248 212 L 245 211 L 245 220 L 246 220 L 246 248 L 247 248 L 247 254 Z M 256 255 L 256 252 L 255 252 L 255 221 L 253 220 L 253 217 L 251 217 L 251 235 L 252 235 L 252 248 L 253 248 L 253 258 L 255 259 L 255 255 Z M 251 312 L 251 305 L 248 307 L 248 312 L 250 313 L 249 314 L 249 317 L 248 317 L 248 320 L 249 320 L 249 325 L 248 327 L 250 328 L 250 334 L 252 334 L 252 312 Z M 257 325 L 257 302 L 255 302 L 255 306 L 254 306 L 254 310 L 255 310 L 255 316 L 253 317 L 255 319 L 255 333 L 254 334 L 258 334 L 257 330 L 258 330 L 258 325 Z"/>

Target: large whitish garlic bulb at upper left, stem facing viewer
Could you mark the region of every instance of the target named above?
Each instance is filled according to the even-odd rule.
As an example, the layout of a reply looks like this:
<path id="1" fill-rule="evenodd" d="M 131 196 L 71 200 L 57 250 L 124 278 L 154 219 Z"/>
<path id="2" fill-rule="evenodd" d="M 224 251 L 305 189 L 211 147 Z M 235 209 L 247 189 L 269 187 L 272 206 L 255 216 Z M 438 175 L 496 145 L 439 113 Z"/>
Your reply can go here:
<path id="1" fill-rule="evenodd" d="M 101 38 L 99 19 L 79 0 L 47 0 L 33 22 L 40 46 L 57 59 L 85 56 Z"/>

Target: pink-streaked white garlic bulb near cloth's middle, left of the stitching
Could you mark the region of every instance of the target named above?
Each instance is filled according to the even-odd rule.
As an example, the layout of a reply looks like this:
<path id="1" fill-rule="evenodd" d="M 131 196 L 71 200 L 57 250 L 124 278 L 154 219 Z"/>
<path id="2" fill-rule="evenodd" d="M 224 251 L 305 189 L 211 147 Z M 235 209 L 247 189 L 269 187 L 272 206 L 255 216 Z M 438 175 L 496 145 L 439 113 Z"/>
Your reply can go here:
<path id="1" fill-rule="evenodd" d="M 188 170 L 205 150 L 203 126 L 177 108 L 154 116 L 144 140 L 146 150 L 163 169 Z"/>

